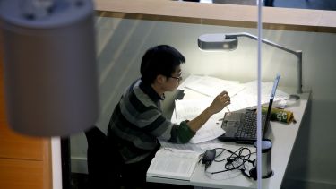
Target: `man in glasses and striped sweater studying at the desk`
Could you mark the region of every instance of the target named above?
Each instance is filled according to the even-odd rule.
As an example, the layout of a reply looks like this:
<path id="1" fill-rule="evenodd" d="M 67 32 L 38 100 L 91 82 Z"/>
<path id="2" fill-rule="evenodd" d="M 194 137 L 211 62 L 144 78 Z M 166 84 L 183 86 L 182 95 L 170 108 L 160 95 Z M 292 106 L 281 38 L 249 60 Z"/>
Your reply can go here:
<path id="1" fill-rule="evenodd" d="M 182 80 L 180 65 L 185 57 L 174 47 L 151 47 L 142 56 L 141 79 L 124 92 L 111 116 L 108 138 L 125 162 L 123 177 L 134 185 L 145 185 L 146 171 L 159 150 L 158 138 L 185 143 L 202 125 L 230 103 L 226 91 L 221 92 L 201 115 L 179 125 L 162 115 L 160 101 L 166 91 L 177 89 Z"/>

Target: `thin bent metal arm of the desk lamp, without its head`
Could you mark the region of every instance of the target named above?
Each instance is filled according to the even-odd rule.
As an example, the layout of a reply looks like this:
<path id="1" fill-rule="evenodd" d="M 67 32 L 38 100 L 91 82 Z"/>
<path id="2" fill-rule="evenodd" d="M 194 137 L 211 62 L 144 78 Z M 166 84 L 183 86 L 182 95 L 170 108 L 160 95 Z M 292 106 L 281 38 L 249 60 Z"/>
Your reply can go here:
<path id="1" fill-rule="evenodd" d="M 235 37 L 246 37 L 249 39 L 254 39 L 257 40 L 258 38 L 250 33 L 246 32 L 240 32 L 240 33 L 231 33 L 231 34 L 226 34 L 226 37 L 228 38 L 235 38 Z M 263 43 L 266 43 L 267 45 L 270 45 L 272 47 L 277 47 L 281 50 L 284 50 L 290 54 L 293 54 L 297 56 L 297 93 L 302 93 L 302 51 L 301 50 L 291 50 L 287 47 L 282 47 L 279 44 L 276 44 L 274 42 L 271 42 L 270 40 L 267 39 L 262 39 Z"/>

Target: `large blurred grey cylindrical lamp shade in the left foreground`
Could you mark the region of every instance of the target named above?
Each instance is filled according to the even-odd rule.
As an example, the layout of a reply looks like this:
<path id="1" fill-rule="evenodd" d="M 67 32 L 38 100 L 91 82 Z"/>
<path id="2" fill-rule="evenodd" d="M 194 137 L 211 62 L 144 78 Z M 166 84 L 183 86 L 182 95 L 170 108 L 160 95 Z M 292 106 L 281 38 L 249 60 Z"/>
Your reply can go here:
<path id="1" fill-rule="evenodd" d="M 90 128 L 99 115 L 93 4 L 56 0 L 39 18 L 22 2 L 0 2 L 9 125 L 33 136 Z"/>

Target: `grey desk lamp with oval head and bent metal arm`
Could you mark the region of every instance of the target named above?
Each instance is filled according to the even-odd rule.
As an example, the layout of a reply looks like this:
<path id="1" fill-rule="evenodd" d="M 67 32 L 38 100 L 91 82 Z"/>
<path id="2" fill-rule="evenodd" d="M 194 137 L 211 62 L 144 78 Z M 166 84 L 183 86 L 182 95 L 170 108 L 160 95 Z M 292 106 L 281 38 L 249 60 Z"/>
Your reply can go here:
<path id="1" fill-rule="evenodd" d="M 203 34 L 198 38 L 198 47 L 203 50 L 235 50 L 238 45 L 238 37 L 246 37 L 249 39 L 257 40 L 258 38 L 246 32 L 242 33 L 211 33 Z M 261 39 L 263 43 L 272 47 L 280 48 L 286 52 L 289 52 L 297 56 L 297 93 L 302 93 L 302 51 L 291 50 L 287 47 L 282 47 L 276 43 L 267 39 Z M 291 95 L 290 98 L 299 99 L 297 95 Z"/>

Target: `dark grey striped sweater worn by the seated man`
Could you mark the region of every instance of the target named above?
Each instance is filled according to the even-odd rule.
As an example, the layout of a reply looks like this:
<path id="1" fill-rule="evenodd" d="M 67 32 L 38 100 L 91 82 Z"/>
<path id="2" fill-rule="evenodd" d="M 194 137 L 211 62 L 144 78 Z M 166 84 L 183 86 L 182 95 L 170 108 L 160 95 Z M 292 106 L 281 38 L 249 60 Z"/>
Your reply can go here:
<path id="1" fill-rule="evenodd" d="M 159 149 L 158 138 L 188 142 L 194 132 L 187 121 L 176 125 L 162 115 L 159 94 L 151 85 L 135 81 L 125 90 L 111 116 L 108 137 L 116 143 L 125 163 L 145 159 Z"/>

